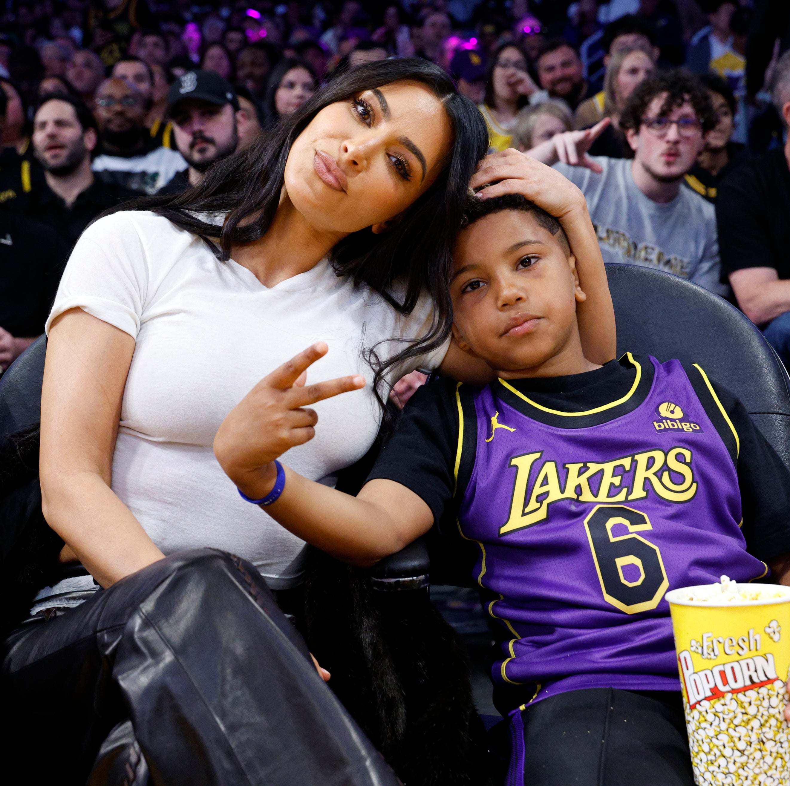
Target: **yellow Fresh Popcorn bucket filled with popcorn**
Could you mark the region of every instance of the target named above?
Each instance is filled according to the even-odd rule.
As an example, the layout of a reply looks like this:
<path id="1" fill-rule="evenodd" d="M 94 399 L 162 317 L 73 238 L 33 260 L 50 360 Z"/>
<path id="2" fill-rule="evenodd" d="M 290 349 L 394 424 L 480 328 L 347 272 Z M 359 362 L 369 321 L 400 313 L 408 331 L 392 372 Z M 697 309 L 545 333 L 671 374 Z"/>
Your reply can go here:
<path id="1" fill-rule="evenodd" d="M 790 587 L 735 585 L 723 576 L 720 585 L 666 598 L 694 780 L 790 786 Z"/>

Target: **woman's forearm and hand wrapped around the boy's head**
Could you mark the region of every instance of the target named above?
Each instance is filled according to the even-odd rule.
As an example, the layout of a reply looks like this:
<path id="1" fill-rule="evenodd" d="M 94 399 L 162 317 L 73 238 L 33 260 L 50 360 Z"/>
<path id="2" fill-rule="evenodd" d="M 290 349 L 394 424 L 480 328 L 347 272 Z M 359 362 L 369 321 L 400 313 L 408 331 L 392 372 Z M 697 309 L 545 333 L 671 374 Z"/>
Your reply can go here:
<path id="1" fill-rule="evenodd" d="M 483 159 L 471 186 L 476 189 L 487 183 L 495 185 L 480 190 L 481 199 L 522 194 L 562 224 L 587 295 L 584 303 L 577 304 L 581 346 L 592 363 L 607 363 L 617 352 L 615 310 L 584 194 L 558 171 L 513 149 Z"/>

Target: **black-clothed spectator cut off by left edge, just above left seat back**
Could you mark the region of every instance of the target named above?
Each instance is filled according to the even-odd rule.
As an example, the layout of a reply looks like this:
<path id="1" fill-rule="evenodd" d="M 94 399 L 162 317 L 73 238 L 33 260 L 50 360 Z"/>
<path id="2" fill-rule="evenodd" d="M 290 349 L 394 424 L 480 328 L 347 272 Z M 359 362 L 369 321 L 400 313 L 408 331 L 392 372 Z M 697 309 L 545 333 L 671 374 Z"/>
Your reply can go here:
<path id="1" fill-rule="evenodd" d="M 44 332 L 68 255 L 46 224 L 0 210 L 0 368 Z"/>

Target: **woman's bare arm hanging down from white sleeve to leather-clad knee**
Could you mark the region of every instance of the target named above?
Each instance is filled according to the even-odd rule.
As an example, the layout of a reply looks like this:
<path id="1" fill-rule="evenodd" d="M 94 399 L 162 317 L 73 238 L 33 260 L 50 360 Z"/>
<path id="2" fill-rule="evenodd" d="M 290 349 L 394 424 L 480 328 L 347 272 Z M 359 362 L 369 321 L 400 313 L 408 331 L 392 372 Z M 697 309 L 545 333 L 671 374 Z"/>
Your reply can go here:
<path id="1" fill-rule="evenodd" d="M 47 341 L 41 392 L 41 506 L 103 587 L 163 558 L 111 490 L 112 457 L 134 339 L 81 309 Z"/>

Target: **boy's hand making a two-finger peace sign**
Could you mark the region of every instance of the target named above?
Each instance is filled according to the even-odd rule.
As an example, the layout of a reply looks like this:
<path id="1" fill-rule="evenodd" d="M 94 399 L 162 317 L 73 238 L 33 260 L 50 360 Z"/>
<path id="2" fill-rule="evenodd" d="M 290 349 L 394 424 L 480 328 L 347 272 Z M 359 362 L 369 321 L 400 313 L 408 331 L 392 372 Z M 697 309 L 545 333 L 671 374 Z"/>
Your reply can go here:
<path id="1" fill-rule="evenodd" d="M 273 370 L 231 409 L 217 430 L 214 455 L 248 497 L 265 497 L 276 480 L 272 462 L 315 436 L 318 415 L 306 408 L 308 404 L 365 386 L 359 374 L 305 385 L 307 369 L 327 349 L 319 341 Z"/>

